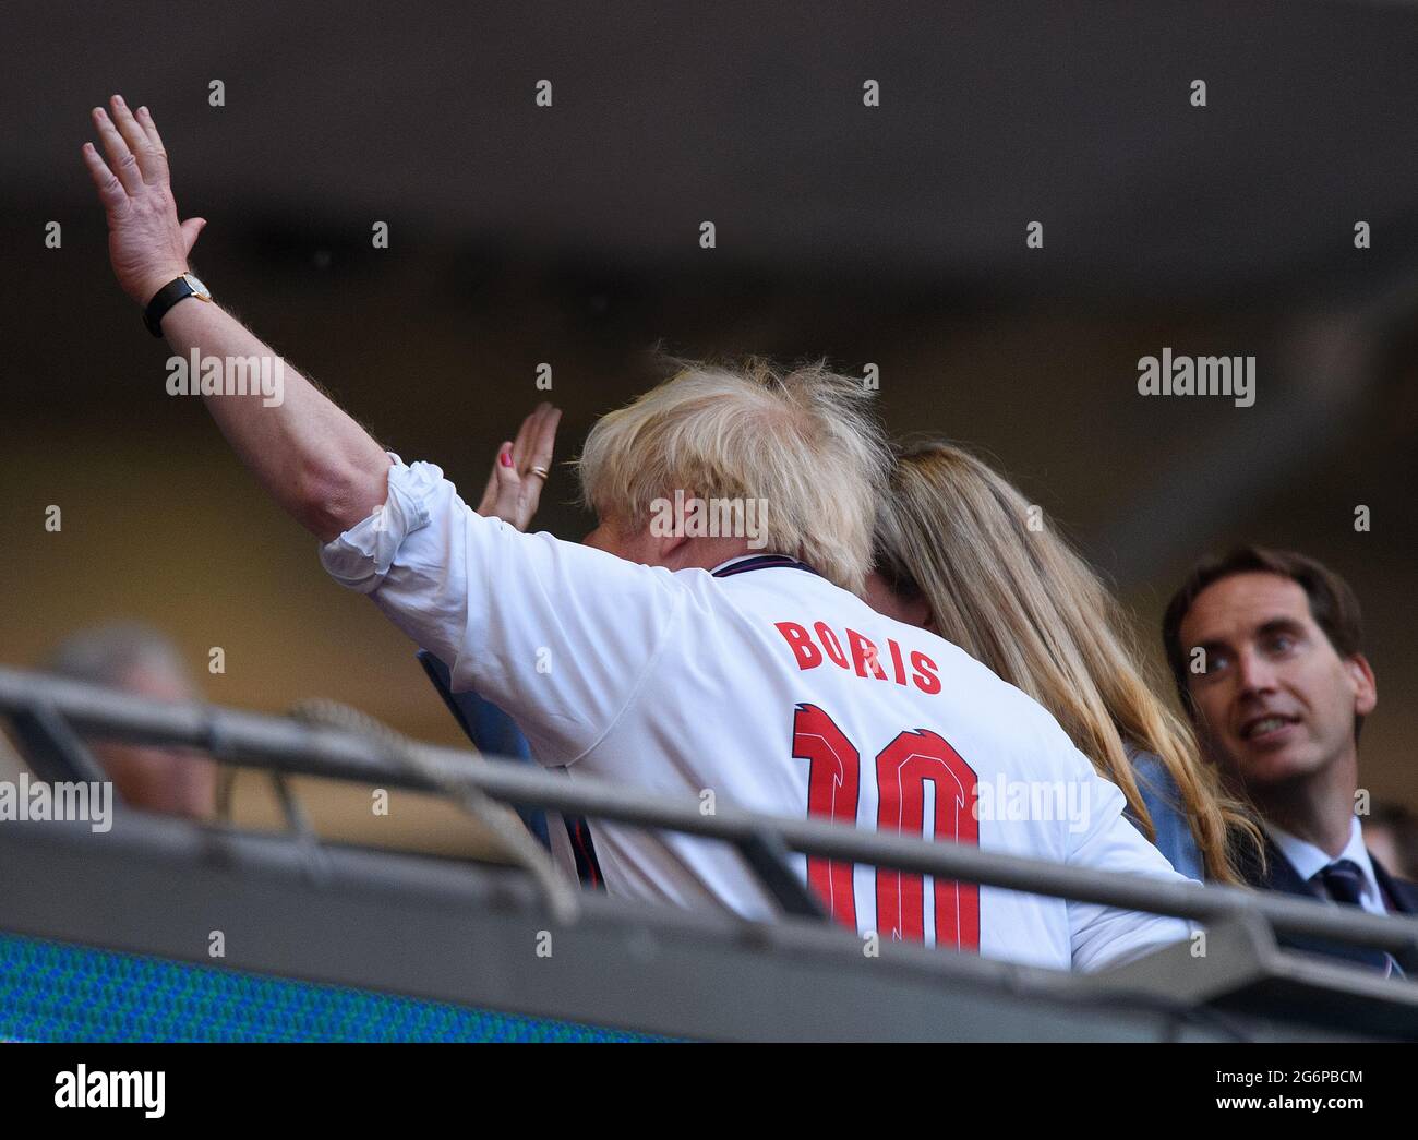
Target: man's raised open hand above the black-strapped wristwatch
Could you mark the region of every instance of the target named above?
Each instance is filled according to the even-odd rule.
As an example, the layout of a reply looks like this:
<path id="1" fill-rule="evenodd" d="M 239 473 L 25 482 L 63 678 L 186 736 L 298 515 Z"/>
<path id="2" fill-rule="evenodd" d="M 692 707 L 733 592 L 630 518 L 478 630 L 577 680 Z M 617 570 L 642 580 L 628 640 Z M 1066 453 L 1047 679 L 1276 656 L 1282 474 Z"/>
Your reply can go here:
<path id="1" fill-rule="evenodd" d="M 177 221 L 167 181 L 167 152 L 146 106 L 135 116 L 121 95 L 109 101 L 112 116 L 92 111 L 108 162 L 84 143 L 84 162 L 108 216 L 108 255 L 118 284 L 139 305 L 173 278 L 187 272 L 187 257 L 206 218 Z"/>

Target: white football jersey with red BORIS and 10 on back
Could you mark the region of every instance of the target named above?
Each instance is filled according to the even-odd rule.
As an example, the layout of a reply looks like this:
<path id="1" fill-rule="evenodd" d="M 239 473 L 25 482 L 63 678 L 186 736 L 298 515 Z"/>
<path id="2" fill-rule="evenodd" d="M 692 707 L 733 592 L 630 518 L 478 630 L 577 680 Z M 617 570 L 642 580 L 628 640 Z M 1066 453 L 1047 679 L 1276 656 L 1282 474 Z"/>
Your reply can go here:
<path id="1" fill-rule="evenodd" d="M 472 512 L 393 457 L 389 502 L 320 552 L 454 689 L 506 709 L 536 759 L 699 803 L 977 844 L 1184 882 L 1039 705 L 957 647 L 790 559 L 640 566 Z M 727 844 L 593 822 L 613 895 L 774 905 Z M 834 919 L 882 939 L 1093 968 L 1187 937 L 1178 919 L 793 856 Z"/>

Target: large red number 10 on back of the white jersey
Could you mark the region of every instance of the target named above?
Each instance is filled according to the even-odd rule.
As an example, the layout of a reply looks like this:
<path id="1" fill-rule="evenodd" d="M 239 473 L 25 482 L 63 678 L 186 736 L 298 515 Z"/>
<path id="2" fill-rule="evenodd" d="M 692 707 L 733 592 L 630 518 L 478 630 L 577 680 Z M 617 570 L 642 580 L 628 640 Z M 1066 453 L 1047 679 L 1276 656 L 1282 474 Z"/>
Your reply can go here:
<path id="1" fill-rule="evenodd" d="M 852 742 L 815 705 L 793 717 L 793 756 L 808 761 L 807 811 L 835 822 L 856 822 L 861 761 Z M 926 788 L 932 820 L 926 828 Z M 876 829 L 937 841 L 980 842 L 974 815 L 974 770 L 933 732 L 902 732 L 876 756 Z M 852 865 L 808 856 L 808 885 L 828 913 L 856 929 Z M 980 949 L 980 888 L 937 879 L 933 892 L 937 946 Z M 925 940 L 926 883 L 922 875 L 876 868 L 876 929 L 886 937 Z"/>

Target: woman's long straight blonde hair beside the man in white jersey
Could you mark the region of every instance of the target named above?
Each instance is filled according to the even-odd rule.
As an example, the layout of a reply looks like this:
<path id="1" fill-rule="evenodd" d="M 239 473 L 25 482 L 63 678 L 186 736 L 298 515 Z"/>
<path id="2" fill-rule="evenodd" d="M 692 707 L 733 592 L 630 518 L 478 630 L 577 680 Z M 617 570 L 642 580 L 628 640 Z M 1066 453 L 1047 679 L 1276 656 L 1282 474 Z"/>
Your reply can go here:
<path id="1" fill-rule="evenodd" d="M 1156 696 L 1112 593 L 1007 479 L 943 441 L 900 448 L 876 520 L 876 573 L 899 597 L 925 600 L 943 638 L 1054 713 L 1149 839 L 1127 746 L 1156 753 L 1208 878 L 1241 882 L 1235 856 L 1262 848 L 1259 828 Z"/>

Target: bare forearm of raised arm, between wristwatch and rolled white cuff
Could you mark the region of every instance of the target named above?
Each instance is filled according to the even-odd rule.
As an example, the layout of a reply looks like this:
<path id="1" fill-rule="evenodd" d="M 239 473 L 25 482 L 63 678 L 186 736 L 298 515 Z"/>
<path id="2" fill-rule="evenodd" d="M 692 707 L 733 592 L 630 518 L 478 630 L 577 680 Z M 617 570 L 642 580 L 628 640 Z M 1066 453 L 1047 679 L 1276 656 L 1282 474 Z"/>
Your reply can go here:
<path id="1" fill-rule="evenodd" d="M 173 352 L 190 359 L 275 354 L 216 303 L 189 298 L 163 318 Z M 274 364 L 272 364 L 274 367 Z M 389 493 L 389 455 L 354 420 L 289 364 L 281 401 L 261 393 L 207 396 L 227 442 L 259 484 L 320 542 L 367 518 Z"/>

